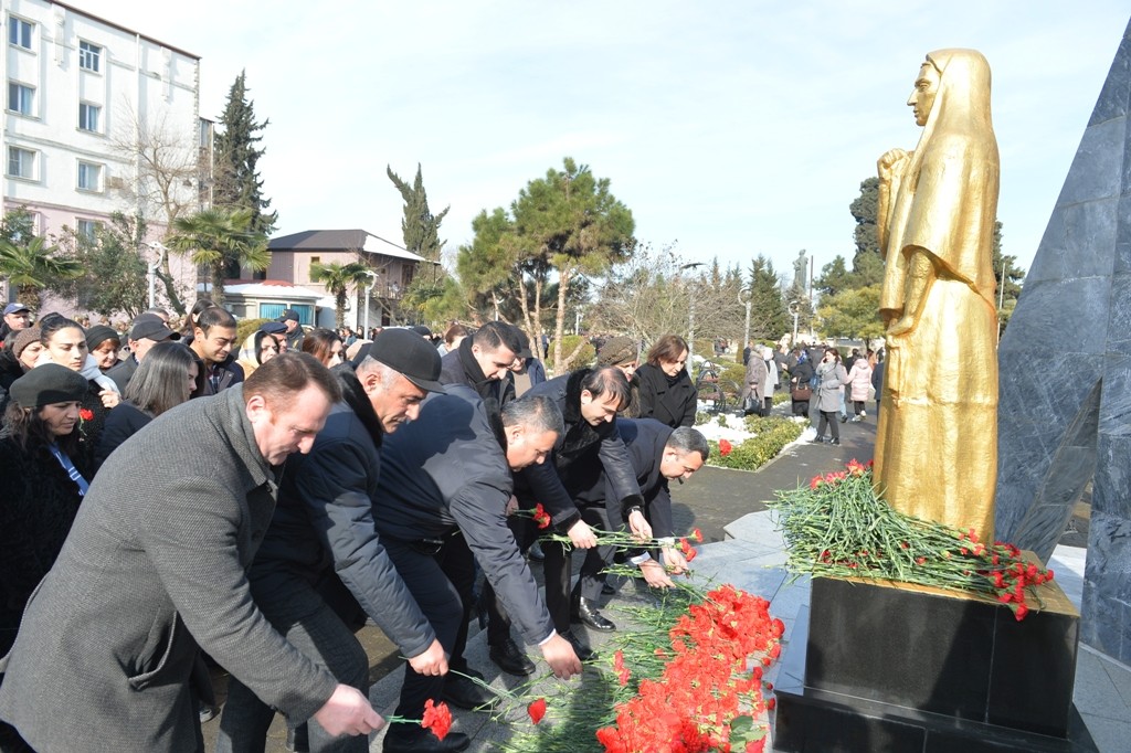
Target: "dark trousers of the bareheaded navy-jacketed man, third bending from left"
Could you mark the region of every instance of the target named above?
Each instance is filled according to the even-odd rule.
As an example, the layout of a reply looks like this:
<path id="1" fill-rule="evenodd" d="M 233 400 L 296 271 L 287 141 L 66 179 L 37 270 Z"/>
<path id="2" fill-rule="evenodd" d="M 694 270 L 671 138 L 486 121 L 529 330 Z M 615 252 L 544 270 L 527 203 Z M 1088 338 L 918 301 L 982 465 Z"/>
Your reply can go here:
<path id="1" fill-rule="evenodd" d="M 421 612 L 435 631 L 437 640 L 450 657 L 448 666 L 456 672 L 467 669 L 464 649 L 467 647 L 467 620 L 472 611 L 475 585 L 475 559 L 463 534 L 444 537 L 439 551 L 417 542 L 382 537 L 385 551 Z M 405 661 L 405 684 L 395 713 L 408 719 L 424 715 L 424 701 L 439 702 L 443 694 L 443 677 L 417 674 Z"/>

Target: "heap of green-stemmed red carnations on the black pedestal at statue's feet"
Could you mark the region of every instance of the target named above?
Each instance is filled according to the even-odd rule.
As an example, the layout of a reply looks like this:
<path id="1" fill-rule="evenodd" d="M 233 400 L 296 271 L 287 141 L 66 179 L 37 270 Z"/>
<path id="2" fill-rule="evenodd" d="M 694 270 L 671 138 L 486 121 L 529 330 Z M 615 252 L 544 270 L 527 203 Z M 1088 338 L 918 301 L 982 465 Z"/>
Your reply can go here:
<path id="1" fill-rule="evenodd" d="M 809 487 L 779 493 L 771 507 L 789 547 L 787 566 L 814 575 L 875 578 L 979 594 L 1029 613 L 1026 589 L 1053 579 L 1012 544 L 891 508 L 875 492 L 872 462 L 813 476 Z M 1033 591 L 1028 591 L 1033 594 Z"/>

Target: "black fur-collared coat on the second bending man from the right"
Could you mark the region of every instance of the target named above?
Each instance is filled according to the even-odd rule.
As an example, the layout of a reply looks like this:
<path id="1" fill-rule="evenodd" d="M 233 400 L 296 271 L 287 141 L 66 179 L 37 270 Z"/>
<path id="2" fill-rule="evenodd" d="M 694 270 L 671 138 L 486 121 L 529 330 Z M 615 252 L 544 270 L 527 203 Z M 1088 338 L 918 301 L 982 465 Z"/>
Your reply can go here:
<path id="1" fill-rule="evenodd" d="M 602 470 L 612 490 L 606 509 L 613 520 L 620 520 L 622 504 L 641 499 L 628 451 L 616 432 L 618 419 L 593 426 L 581 417 L 581 381 L 590 371 L 579 369 L 556 376 L 526 393 L 550 397 L 566 419 L 566 433 L 552 459 L 523 470 L 516 491 L 519 500 L 530 507 L 541 502 L 555 526 L 570 523 L 578 517 L 573 496 Z"/>

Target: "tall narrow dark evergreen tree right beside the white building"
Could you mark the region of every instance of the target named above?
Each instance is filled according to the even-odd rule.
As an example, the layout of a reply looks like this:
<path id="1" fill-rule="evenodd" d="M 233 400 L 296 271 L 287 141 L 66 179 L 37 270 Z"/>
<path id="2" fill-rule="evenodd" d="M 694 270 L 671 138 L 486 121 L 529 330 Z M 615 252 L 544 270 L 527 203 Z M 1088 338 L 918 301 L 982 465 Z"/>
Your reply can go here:
<path id="1" fill-rule="evenodd" d="M 225 211 L 248 209 L 251 211 L 249 230 L 270 235 L 278 219 L 277 211 L 270 211 L 271 202 L 262 194 L 264 182 L 259 179 L 257 163 L 265 149 L 259 133 L 270 123 L 256 120 L 254 103 L 248 101 L 247 71 L 240 71 L 227 93 L 227 105 L 219 119 L 214 156 L 213 205 Z"/>

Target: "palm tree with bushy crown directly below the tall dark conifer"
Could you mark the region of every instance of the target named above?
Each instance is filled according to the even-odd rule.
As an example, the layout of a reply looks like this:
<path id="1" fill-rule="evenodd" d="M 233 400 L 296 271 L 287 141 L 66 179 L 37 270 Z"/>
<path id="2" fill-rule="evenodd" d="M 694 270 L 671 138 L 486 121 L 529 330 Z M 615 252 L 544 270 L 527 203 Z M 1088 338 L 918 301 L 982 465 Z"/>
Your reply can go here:
<path id="1" fill-rule="evenodd" d="M 167 245 L 189 253 L 192 263 L 211 272 L 211 300 L 224 305 L 224 275 L 228 267 L 267 269 L 271 254 L 267 236 L 251 227 L 251 209 L 204 209 L 173 222 Z"/>

